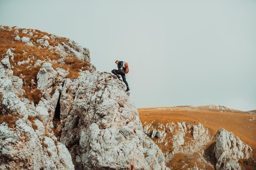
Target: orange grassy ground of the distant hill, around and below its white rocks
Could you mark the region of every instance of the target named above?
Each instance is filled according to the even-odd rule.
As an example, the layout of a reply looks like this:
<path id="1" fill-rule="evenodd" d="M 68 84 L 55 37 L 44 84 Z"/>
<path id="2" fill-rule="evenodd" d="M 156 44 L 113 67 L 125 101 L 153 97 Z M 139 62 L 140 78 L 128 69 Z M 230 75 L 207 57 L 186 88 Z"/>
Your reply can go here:
<path id="1" fill-rule="evenodd" d="M 180 106 L 180 107 L 159 107 L 159 108 L 140 108 L 138 109 L 141 123 L 144 127 L 144 132 L 149 131 L 149 129 L 165 129 L 166 137 L 164 138 L 164 142 L 162 142 L 161 137 L 151 137 L 154 142 L 161 148 L 165 155 L 168 155 L 170 150 L 173 150 L 173 142 L 171 138 L 173 138 L 173 133 L 168 131 L 168 128 L 163 127 L 164 125 L 174 122 L 186 122 L 186 124 L 202 124 L 205 129 L 209 129 L 209 134 L 212 137 L 212 140 L 206 142 L 206 146 L 201 149 L 201 152 L 205 152 L 206 157 L 208 157 L 209 161 L 212 164 L 216 164 L 216 159 L 214 159 L 214 153 L 209 150 L 213 150 L 214 145 L 216 144 L 215 134 L 219 128 L 224 128 L 229 132 L 233 132 L 234 135 L 238 136 L 241 141 L 245 144 L 252 147 L 254 151 L 255 160 L 256 154 L 256 115 L 253 112 L 244 112 L 238 111 L 234 109 L 229 109 L 227 107 L 221 107 L 216 105 L 209 106 L 200 106 L 200 107 L 190 107 L 190 106 Z M 162 125 L 162 126 L 161 126 Z M 172 135 L 172 136 L 170 136 Z M 164 136 L 164 134 L 162 135 Z M 184 137 L 185 141 L 183 145 L 186 145 L 191 140 L 192 136 Z M 168 140 L 169 139 L 169 140 Z M 166 141 L 167 140 L 167 141 Z M 166 145 L 168 142 L 168 145 Z M 208 153 L 207 153 L 208 151 Z M 208 154 L 208 155 L 207 155 Z M 193 168 L 195 165 L 194 162 L 197 162 L 199 165 L 207 164 L 202 163 L 204 158 L 195 159 L 195 157 L 200 157 L 197 153 L 187 153 L 184 151 L 180 154 L 175 154 L 167 165 L 173 169 L 182 169 L 180 162 L 186 162 L 187 167 Z M 255 169 L 256 164 L 253 160 L 250 161 L 250 166 L 247 166 L 243 163 L 240 163 L 244 169 Z M 254 163 L 253 163 L 254 162 Z M 199 166 L 202 169 L 205 169 L 206 166 Z M 254 168 L 253 168 L 254 167 Z M 208 169 L 213 169 L 211 166 L 207 166 Z"/>

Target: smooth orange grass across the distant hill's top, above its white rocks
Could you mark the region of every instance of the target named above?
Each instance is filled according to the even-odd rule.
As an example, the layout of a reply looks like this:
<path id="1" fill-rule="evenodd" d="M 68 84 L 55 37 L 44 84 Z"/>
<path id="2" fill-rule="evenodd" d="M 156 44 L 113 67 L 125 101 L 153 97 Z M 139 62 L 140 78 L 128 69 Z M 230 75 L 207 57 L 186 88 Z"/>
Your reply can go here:
<path id="1" fill-rule="evenodd" d="M 203 107 L 198 107 L 198 109 L 187 109 L 187 107 L 140 108 L 138 112 L 143 126 L 144 122 L 153 122 L 153 120 L 155 120 L 154 127 L 158 127 L 158 123 L 165 125 L 171 122 L 200 122 L 204 128 L 208 128 L 211 131 L 212 136 L 215 136 L 219 127 L 224 128 L 229 132 L 233 132 L 245 144 L 251 146 L 254 151 L 254 159 L 256 159 L 256 122 L 249 121 L 249 119 L 256 118 L 256 115 L 242 111 L 235 111 L 236 113 L 225 113 L 220 112 L 220 110 L 205 111 Z M 153 141 L 157 140 L 155 138 L 151 139 Z M 215 142 L 214 139 L 215 137 L 212 143 Z M 163 153 L 171 149 L 170 146 L 166 148 L 164 144 L 157 142 L 156 144 Z M 183 158 L 181 157 L 180 159 Z"/>

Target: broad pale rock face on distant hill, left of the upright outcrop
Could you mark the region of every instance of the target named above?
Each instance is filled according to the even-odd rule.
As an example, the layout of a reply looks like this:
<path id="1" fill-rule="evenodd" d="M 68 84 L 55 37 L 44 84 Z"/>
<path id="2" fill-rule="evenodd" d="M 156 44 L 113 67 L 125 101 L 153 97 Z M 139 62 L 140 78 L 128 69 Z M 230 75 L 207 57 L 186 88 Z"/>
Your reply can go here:
<path id="1" fill-rule="evenodd" d="M 155 126 L 156 124 L 158 125 Z M 156 121 L 151 123 L 144 122 L 144 133 L 149 137 L 155 138 L 155 143 L 163 150 L 169 167 L 214 169 L 214 165 L 210 163 L 204 152 L 206 146 L 212 141 L 213 136 L 202 124 L 190 122 L 170 122 L 166 124 L 157 123 Z M 214 153 L 214 150 L 210 152 Z M 176 159 L 178 159 L 180 166 L 175 165 Z"/>

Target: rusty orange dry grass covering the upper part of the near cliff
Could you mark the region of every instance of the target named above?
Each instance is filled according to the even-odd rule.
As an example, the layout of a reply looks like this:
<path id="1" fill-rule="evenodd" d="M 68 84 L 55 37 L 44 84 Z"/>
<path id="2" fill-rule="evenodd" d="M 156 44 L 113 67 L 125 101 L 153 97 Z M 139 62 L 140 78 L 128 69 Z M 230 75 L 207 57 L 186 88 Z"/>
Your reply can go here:
<path id="1" fill-rule="evenodd" d="M 18 30 L 19 33 L 14 33 L 14 31 Z M 43 47 L 42 44 L 36 43 L 38 39 L 42 39 L 44 35 L 51 37 L 48 33 L 39 31 L 39 30 L 31 30 L 27 29 L 29 32 L 33 33 L 30 36 L 27 33 L 22 33 L 23 28 L 18 28 L 9 30 L 9 27 L 4 26 L 4 29 L 0 30 L 0 56 L 4 58 L 6 56 L 7 50 L 10 48 L 11 52 L 13 52 L 13 60 L 10 59 L 10 64 L 13 70 L 13 75 L 22 78 L 23 87 L 25 90 L 25 94 L 23 95 L 25 98 L 33 101 L 38 104 L 41 94 L 38 90 L 36 90 L 36 75 L 43 64 L 43 62 L 53 61 L 53 68 L 62 68 L 64 70 L 68 70 L 70 74 L 66 76 L 66 78 L 77 78 L 80 76 L 80 70 L 85 71 L 88 70 L 88 66 L 90 63 L 86 61 L 80 61 L 72 54 L 69 54 L 69 58 L 65 59 L 66 64 L 55 62 L 61 58 L 61 55 L 54 51 L 49 50 L 48 48 L 39 48 L 39 46 Z M 28 46 L 20 41 L 14 41 L 16 36 L 19 37 L 29 37 L 30 41 L 35 46 Z M 49 38 L 48 42 L 51 46 L 58 46 L 59 42 L 68 43 L 69 39 L 65 37 L 57 37 L 54 39 Z M 36 61 L 41 60 L 43 62 L 40 65 L 35 65 Z M 21 65 L 18 65 L 19 61 L 26 61 Z M 33 82 L 31 80 L 34 80 Z"/>

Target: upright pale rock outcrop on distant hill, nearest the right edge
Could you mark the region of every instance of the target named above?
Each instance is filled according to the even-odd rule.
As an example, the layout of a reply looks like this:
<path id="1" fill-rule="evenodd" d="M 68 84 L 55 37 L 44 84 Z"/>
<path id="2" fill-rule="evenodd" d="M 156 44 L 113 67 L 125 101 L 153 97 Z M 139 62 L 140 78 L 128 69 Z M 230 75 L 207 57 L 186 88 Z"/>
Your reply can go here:
<path id="1" fill-rule="evenodd" d="M 249 159 L 252 148 L 235 137 L 234 133 L 219 129 L 216 133 L 216 170 L 241 170 L 239 159 Z"/>

